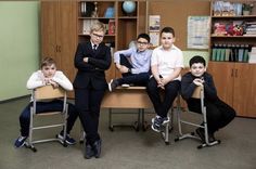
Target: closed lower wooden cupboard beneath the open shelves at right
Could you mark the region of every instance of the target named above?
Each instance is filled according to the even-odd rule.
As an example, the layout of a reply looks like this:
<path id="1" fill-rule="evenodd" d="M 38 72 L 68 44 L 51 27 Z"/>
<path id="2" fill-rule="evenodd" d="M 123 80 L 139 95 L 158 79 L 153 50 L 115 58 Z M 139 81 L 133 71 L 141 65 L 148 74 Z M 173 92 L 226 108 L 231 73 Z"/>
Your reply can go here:
<path id="1" fill-rule="evenodd" d="M 218 95 L 231 105 L 238 116 L 256 117 L 256 65 L 247 63 L 209 62 Z"/>

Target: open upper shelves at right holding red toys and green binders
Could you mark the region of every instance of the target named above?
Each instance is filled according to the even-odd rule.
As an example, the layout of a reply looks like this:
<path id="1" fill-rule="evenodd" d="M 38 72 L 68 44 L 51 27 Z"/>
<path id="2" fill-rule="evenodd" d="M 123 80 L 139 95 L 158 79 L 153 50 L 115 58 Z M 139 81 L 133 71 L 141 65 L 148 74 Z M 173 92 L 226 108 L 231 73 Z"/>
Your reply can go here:
<path id="1" fill-rule="evenodd" d="M 256 9 L 253 0 L 212 0 L 210 61 L 248 62 L 248 52 L 256 46 L 256 13 L 244 15 L 245 3 L 254 4 Z"/>

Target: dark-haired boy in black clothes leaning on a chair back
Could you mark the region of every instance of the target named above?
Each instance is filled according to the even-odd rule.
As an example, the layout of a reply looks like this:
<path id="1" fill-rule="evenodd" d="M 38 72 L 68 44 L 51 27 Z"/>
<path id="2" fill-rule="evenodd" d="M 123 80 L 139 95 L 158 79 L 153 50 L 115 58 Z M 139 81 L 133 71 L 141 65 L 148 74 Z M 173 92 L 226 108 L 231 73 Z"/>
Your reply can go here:
<path id="1" fill-rule="evenodd" d="M 214 133 L 227 126 L 235 117 L 235 112 L 218 98 L 213 77 L 206 73 L 204 57 L 196 55 L 190 60 L 190 73 L 183 75 L 181 79 L 181 95 L 190 110 L 202 113 L 200 99 L 191 98 L 199 86 L 204 87 L 208 139 L 213 142 Z M 204 129 L 197 128 L 195 132 L 204 142 Z"/>

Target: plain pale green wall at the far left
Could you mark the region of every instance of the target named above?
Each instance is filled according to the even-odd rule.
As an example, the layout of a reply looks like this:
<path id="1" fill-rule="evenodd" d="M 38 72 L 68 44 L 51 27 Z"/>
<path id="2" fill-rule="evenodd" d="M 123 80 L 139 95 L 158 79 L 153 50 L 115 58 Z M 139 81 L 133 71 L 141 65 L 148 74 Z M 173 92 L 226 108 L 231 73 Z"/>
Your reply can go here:
<path id="1" fill-rule="evenodd" d="M 0 1 L 0 102 L 29 94 L 39 63 L 39 2 Z"/>

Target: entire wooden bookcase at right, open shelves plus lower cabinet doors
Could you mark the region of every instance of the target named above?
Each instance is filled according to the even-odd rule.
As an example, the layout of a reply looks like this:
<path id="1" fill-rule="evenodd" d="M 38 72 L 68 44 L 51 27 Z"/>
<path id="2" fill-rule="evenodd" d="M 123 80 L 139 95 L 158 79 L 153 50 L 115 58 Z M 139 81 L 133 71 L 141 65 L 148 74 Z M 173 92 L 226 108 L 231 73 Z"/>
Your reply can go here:
<path id="1" fill-rule="evenodd" d="M 256 22 L 256 14 L 240 15 L 234 13 L 215 13 L 215 2 L 212 0 L 210 17 L 212 32 L 209 41 L 209 63 L 207 70 L 213 75 L 218 95 L 232 106 L 238 116 L 256 117 L 256 65 L 248 63 L 248 53 L 256 46 L 256 35 L 248 34 L 246 27 Z M 256 3 L 253 0 L 230 0 L 232 4 Z M 220 26 L 217 27 L 216 23 Z M 222 24 L 222 25 L 221 25 Z M 241 24 L 243 32 L 229 32 L 232 24 Z M 218 30 L 216 30 L 219 28 Z"/>

